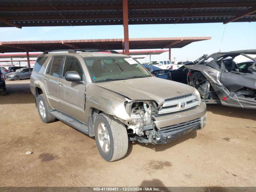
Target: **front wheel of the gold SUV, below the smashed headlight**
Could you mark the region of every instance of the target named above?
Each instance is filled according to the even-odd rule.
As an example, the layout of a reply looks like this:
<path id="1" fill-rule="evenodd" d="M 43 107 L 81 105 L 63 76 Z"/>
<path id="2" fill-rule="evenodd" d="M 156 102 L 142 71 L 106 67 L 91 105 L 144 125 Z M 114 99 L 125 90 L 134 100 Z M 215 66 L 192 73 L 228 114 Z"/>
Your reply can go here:
<path id="1" fill-rule="evenodd" d="M 107 137 L 106 135 L 104 137 L 102 124 L 104 124 L 108 132 Z M 116 120 L 113 116 L 101 113 L 95 118 L 94 130 L 97 148 L 104 160 L 108 162 L 116 161 L 126 155 L 128 150 L 128 134 L 123 123 Z M 103 150 L 104 142 L 106 142 L 105 150 Z M 109 148 L 106 148 L 106 146 Z"/>

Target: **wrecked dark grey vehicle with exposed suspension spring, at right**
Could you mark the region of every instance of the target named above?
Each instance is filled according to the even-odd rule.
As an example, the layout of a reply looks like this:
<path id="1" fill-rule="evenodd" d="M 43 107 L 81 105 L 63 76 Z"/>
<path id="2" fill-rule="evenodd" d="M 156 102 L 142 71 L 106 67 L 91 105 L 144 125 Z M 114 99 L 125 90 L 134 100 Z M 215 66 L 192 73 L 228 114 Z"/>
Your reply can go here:
<path id="1" fill-rule="evenodd" d="M 256 50 L 217 52 L 186 65 L 187 79 L 206 103 L 256 109 Z M 244 56 L 248 62 L 236 63 Z"/>

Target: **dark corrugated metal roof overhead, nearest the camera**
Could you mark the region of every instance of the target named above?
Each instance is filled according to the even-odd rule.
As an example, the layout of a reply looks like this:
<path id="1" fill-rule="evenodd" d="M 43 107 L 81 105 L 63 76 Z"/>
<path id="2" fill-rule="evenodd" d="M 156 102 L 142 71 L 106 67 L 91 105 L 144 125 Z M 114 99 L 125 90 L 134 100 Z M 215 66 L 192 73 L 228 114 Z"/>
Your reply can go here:
<path id="1" fill-rule="evenodd" d="M 129 24 L 253 22 L 256 0 L 129 0 L 128 12 Z M 0 27 L 122 23 L 121 0 L 0 1 Z"/>

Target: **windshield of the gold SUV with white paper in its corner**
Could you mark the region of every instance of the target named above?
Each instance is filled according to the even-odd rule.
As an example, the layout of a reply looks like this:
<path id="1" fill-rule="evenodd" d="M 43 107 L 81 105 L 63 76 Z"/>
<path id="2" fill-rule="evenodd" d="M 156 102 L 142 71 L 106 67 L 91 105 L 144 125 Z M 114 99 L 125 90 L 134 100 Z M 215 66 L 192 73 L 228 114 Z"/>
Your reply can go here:
<path id="1" fill-rule="evenodd" d="M 151 74 L 131 57 L 84 58 L 93 82 L 150 77 Z"/>

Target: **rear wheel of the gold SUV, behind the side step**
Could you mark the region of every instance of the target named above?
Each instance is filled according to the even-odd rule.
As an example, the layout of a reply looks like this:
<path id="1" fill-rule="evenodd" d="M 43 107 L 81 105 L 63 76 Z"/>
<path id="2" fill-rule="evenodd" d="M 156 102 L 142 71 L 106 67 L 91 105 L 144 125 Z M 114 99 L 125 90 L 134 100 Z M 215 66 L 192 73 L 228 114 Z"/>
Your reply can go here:
<path id="1" fill-rule="evenodd" d="M 56 118 L 50 114 L 50 106 L 44 94 L 38 95 L 36 98 L 36 106 L 39 113 L 39 116 L 44 123 L 51 123 L 56 120 Z"/>

